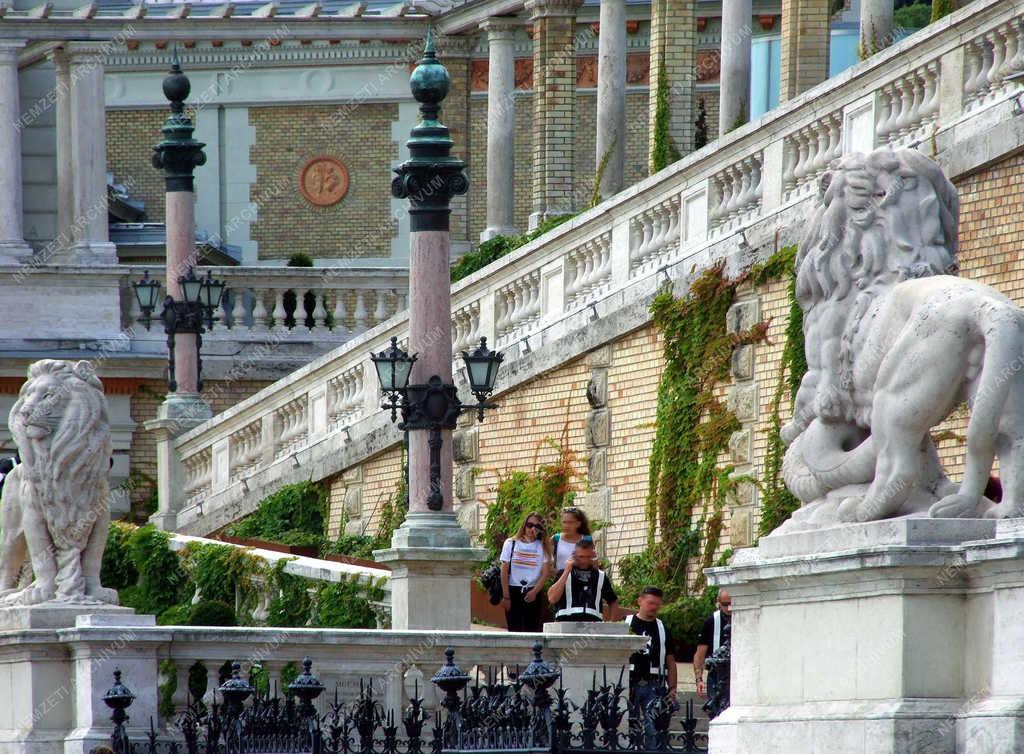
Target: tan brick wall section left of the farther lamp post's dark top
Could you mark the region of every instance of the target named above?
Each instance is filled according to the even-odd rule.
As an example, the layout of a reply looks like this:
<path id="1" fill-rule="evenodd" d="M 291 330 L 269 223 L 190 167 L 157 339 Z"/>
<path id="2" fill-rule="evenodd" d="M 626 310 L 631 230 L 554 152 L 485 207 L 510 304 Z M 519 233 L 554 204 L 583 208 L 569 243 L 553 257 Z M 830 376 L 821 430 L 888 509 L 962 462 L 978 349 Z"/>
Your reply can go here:
<path id="1" fill-rule="evenodd" d="M 164 221 L 164 173 L 153 167 L 153 146 L 167 116 L 167 110 L 106 111 L 106 169 L 132 199 L 145 202 L 151 222 Z"/>

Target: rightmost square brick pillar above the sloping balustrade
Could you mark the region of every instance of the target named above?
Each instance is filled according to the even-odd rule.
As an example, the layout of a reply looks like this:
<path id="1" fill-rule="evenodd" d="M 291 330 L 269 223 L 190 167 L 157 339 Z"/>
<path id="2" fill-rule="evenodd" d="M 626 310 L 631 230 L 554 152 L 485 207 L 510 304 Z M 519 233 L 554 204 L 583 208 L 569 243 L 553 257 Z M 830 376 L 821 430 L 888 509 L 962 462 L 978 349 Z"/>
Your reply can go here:
<path id="1" fill-rule="evenodd" d="M 828 78 L 829 0 L 782 0 L 779 100 Z"/>

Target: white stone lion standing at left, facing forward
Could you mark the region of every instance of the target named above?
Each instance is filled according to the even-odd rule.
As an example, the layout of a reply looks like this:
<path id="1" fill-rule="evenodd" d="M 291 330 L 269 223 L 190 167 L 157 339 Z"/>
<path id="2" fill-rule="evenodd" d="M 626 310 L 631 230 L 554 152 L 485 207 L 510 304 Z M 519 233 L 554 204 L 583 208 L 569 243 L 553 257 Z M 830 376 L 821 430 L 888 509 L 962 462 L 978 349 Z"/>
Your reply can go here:
<path id="1" fill-rule="evenodd" d="M 22 463 L 5 479 L 0 501 L 0 604 L 117 604 L 117 592 L 99 583 L 113 448 L 106 399 L 92 365 L 34 363 L 8 426 Z M 27 554 L 33 580 L 18 588 Z"/>

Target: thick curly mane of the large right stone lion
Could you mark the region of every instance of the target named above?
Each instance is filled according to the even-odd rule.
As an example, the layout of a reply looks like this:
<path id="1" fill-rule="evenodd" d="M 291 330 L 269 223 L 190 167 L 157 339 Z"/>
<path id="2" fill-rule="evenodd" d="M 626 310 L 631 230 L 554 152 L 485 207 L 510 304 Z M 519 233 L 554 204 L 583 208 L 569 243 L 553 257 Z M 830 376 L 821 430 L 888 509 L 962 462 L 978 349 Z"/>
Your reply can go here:
<path id="1" fill-rule="evenodd" d="M 918 217 L 895 211 L 904 188 L 928 181 Z M 807 312 L 819 301 L 901 279 L 956 271 L 959 200 L 938 165 L 914 150 L 878 150 L 843 158 L 819 185 L 815 211 L 797 256 L 797 298 Z M 932 205 L 935 206 L 932 206 Z M 920 248 L 910 223 L 938 210 L 945 243 Z"/>

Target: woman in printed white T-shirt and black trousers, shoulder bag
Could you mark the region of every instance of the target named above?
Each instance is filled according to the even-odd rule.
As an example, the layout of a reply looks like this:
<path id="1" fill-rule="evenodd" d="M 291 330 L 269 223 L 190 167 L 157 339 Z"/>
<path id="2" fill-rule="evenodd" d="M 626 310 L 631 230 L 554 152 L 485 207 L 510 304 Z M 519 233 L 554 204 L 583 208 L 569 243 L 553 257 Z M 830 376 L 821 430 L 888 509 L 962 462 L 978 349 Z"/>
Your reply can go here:
<path id="1" fill-rule="evenodd" d="M 509 631 L 541 631 L 541 593 L 551 572 L 551 541 L 539 513 L 527 513 L 502 547 L 502 606 Z"/>

